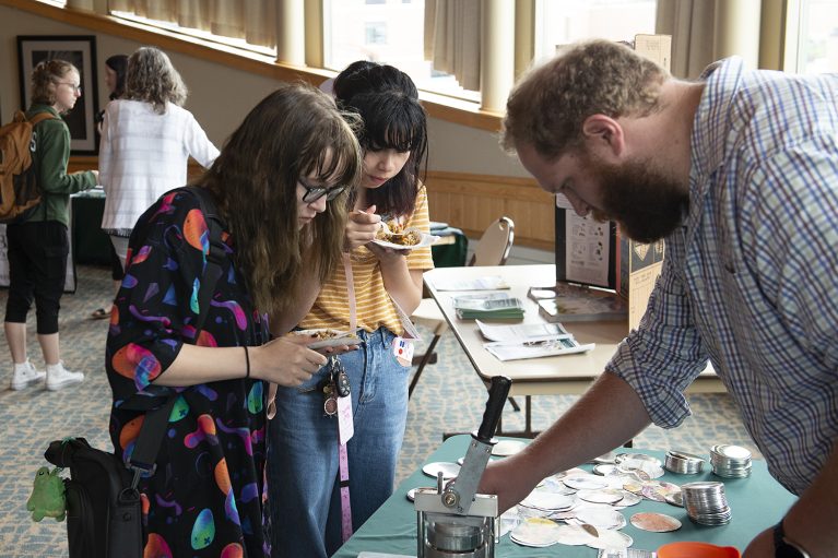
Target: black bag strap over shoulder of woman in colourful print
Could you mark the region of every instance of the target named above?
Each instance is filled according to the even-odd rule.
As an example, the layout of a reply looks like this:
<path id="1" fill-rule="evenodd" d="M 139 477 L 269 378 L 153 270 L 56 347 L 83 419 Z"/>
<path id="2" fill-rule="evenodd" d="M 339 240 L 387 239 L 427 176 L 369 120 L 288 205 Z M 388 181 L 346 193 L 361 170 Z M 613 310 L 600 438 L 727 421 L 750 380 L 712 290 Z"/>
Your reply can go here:
<path id="1" fill-rule="evenodd" d="M 210 312 L 210 301 L 212 300 L 215 285 L 223 273 L 222 263 L 226 256 L 224 242 L 221 239 L 223 227 L 210 192 L 196 186 L 186 186 L 180 188 L 180 190 L 191 192 L 198 198 L 199 207 L 201 213 L 203 213 L 210 229 L 210 251 L 206 254 L 206 269 L 204 270 L 203 280 L 201 281 L 201 287 L 198 290 L 198 307 L 200 308 L 200 313 L 194 322 L 194 341 L 197 342 L 198 335 L 203 329 L 206 316 Z M 133 470 L 134 472 L 134 488 L 140 482 L 140 475 L 142 473 L 154 473 L 155 461 L 157 461 L 157 453 L 160 452 L 161 442 L 163 441 L 163 435 L 166 431 L 169 415 L 172 414 L 172 408 L 175 406 L 176 400 L 176 394 L 169 395 L 163 405 L 154 409 L 149 409 L 145 413 L 143 425 L 140 428 L 140 435 L 134 442 L 131 459 L 128 461 L 128 468 Z M 125 406 L 125 408 L 134 407 L 129 404 L 128 406 Z"/>

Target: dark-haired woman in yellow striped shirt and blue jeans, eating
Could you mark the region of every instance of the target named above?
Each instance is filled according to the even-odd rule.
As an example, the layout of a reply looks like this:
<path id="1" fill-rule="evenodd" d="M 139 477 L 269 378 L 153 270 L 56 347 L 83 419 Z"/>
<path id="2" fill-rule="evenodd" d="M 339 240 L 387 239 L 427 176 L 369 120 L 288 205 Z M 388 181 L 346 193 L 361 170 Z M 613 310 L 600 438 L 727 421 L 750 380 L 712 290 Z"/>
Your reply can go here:
<path id="1" fill-rule="evenodd" d="M 355 63 L 334 81 L 338 105 L 361 115 L 364 150 L 361 187 L 349 200 L 344 266 L 322 285 L 299 327 L 357 328 L 357 351 L 340 355 L 351 393 L 354 436 L 345 447 L 351 525 L 342 524 L 345 478 L 339 423 L 327 416 L 331 366 L 298 387 L 280 388 L 269 428 L 269 486 L 273 556 L 331 556 L 392 494 L 408 415 L 411 365 L 396 352 L 408 337 L 405 316 L 422 300 L 422 273 L 434 266 L 430 248 L 383 248 L 371 240 L 386 216 L 429 230 L 427 193 L 418 179 L 427 152 L 427 124 L 418 93 L 400 70 Z M 351 287 L 351 288 L 350 288 Z M 400 312 L 398 308 L 403 311 Z M 343 502 L 343 504 L 342 504 Z M 347 515 L 349 517 L 349 515 Z"/>

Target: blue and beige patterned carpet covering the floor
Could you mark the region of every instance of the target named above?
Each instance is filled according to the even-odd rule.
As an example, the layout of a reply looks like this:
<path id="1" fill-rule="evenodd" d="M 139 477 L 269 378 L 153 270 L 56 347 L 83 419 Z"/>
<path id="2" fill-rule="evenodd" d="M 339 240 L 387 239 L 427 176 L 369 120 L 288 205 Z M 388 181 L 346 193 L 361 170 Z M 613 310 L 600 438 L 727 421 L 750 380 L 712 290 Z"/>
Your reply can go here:
<path id="1" fill-rule="evenodd" d="M 107 436 L 110 388 L 104 373 L 104 342 L 107 320 L 91 320 L 90 313 L 104 306 L 111 294 L 109 272 L 105 268 L 80 265 L 79 288 L 62 299 L 60 334 L 61 358 L 70 370 L 83 371 L 84 383 L 60 392 L 43 388 L 9 390 L 11 357 L 5 339 L 0 341 L 0 557 L 66 557 L 66 524 L 52 519 L 35 523 L 26 512 L 26 499 L 38 467 L 46 465 L 44 450 L 49 441 L 63 436 L 83 436 L 93 446 L 109 447 Z M 0 289 L 0 307 L 5 307 L 7 290 Z M 43 367 L 35 341 L 34 312 L 28 332 L 29 357 Z M 418 346 L 417 352 L 424 347 Z M 442 439 L 442 432 L 471 431 L 481 420 L 486 392 L 462 354 L 452 334 L 438 345 L 439 361 L 428 366 L 410 403 L 404 444 L 399 458 L 401 480 L 418 467 Z M 570 406 L 577 396 L 533 397 L 533 427 L 546 428 Z M 651 427 L 635 439 L 639 448 L 671 449 L 706 454 L 713 443 L 736 443 L 756 452 L 724 394 L 692 395 L 693 416 L 681 427 L 662 430 Z M 521 402 L 522 403 L 522 402 Z M 523 428 L 523 413 L 507 405 L 504 428 Z"/>

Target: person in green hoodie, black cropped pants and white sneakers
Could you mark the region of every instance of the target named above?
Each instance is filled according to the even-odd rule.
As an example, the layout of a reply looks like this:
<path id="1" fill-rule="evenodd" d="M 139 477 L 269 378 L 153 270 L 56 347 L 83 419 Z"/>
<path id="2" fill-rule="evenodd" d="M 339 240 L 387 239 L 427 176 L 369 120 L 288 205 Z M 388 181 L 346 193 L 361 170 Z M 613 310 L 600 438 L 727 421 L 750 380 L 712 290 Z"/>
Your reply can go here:
<path id="1" fill-rule="evenodd" d="M 32 135 L 32 168 L 42 201 L 21 222 L 5 228 L 9 297 L 3 329 L 12 353 L 11 388 L 22 390 L 46 378 L 48 390 L 60 390 L 84 380 L 83 372 L 63 367 L 58 339 L 58 312 L 70 253 L 70 194 L 96 186 L 97 173 L 67 174 L 70 129 L 61 115 L 70 111 L 82 95 L 79 70 L 64 60 L 46 60 L 35 67 L 31 80 L 32 106 L 26 118 L 39 120 Z M 26 356 L 26 314 L 33 300 L 46 371 L 36 369 Z"/>

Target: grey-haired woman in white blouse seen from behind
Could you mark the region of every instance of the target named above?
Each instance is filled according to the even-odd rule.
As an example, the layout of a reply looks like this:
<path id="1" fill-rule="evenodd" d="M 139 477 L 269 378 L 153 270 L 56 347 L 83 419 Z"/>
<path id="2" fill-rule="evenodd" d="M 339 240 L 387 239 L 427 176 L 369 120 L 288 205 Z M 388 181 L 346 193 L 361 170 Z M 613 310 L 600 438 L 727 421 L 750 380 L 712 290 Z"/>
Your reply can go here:
<path id="1" fill-rule="evenodd" d="M 209 168 L 219 150 L 182 108 L 187 87 L 168 56 L 142 47 L 128 59 L 126 92 L 105 108 L 99 181 L 105 188 L 102 228 L 122 268 L 134 222 L 157 198 L 187 181 L 191 156 Z"/>

